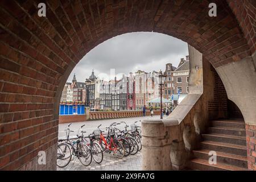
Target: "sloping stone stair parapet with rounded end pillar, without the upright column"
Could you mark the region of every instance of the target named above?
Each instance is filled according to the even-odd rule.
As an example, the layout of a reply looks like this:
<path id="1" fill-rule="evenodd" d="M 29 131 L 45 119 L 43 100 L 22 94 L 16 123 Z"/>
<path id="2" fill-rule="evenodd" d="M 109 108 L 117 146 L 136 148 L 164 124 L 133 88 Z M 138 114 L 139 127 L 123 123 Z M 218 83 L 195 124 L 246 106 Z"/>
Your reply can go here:
<path id="1" fill-rule="evenodd" d="M 201 94 L 188 94 L 169 118 L 142 121 L 143 170 L 185 168 L 204 128 L 203 99 Z"/>

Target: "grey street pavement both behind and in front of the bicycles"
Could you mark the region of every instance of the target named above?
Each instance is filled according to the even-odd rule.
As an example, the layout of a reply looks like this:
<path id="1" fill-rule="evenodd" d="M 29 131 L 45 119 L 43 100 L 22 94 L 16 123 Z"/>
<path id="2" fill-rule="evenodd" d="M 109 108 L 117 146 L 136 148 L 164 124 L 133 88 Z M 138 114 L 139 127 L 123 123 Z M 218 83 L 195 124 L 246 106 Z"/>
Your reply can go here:
<path id="1" fill-rule="evenodd" d="M 134 123 L 135 121 L 143 120 L 143 119 L 159 119 L 160 115 L 154 115 L 153 117 L 146 116 L 146 117 L 132 117 L 132 118 L 116 118 L 116 119 L 102 119 L 102 120 L 96 120 L 96 121 L 84 121 L 84 122 L 76 122 L 72 123 L 71 130 L 74 130 L 75 132 L 78 131 L 79 127 L 81 125 L 85 125 L 83 127 L 83 130 L 86 131 L 87 134 L 90 134 L 93 132 L 93 130 L 96 129 L 98 125 L 101 126 L 101 130 L 104 131 L 106 126 L 109 126 L 110 123 L 113 122 L 121 122 L 125 121 L 127 125 L 130 126 L 130 124 Z M 166 118 L 166 116 L 164 116 Z M 68 123 L 63 123 L 59 125 L 59 138 L 65 138 L 65 132 Z M 140 122 L 137 123 L 137 125 L 141 125 Z M 119 129 L 124 129 L 124 125 L 118 125 Z M 128 129 L 129 130 L 129 129 Z M 74 133 L 76 135 L 76 133 Z M 83 166 L 79 159 L 75 158 L 73 161 L 71 161 L 67 167 L 59 168 L 57 167 L 57 170 L 59 171 L 108 171 L 108 170 L 114 170 L 114 171 L 139 171 L 141 170 L 141 152 L 138 152 L 136 155 L 129 155 L 127 157 L 123 157 L 122 159 L 115 158 L 112 154 L 108 154 L 104 152 L 104 158 L 101 164 L 97 164 L 96 162 L 92 161 L 92 163 L 85 167 Z"/>

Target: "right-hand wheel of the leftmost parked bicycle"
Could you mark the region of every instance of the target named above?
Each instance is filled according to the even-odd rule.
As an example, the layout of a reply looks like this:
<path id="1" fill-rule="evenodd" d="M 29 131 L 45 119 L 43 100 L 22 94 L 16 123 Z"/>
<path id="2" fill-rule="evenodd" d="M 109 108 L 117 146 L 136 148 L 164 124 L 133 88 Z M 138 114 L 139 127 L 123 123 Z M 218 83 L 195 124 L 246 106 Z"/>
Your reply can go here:
<path id="1" fill-rule="evenodd" d="M 77 157 L 84 166 L 89 166 L 92 163 L 92 152 L 83 143 L 79 143 L 79 148 L 77 150 Z"/>

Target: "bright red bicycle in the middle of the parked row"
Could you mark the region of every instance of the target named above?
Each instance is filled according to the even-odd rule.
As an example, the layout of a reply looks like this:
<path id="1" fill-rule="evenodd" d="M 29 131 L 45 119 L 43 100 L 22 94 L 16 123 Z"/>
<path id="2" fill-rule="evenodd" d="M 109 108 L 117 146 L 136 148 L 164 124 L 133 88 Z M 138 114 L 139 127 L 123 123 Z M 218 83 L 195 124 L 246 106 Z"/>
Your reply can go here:
<path id="1" fill-rule="evenodd" d="M 108 137 L 105 139 L 102 131 L 100 130 L 100 126 L 97 127 L 97 130 L 93 131 L 93 134 L 99 136 L 99 144 L 102 149 L 104 149 L 105 152 L 113 152 L 113 155 L 117 158 L 123 158 L 125 155 L 125 148 L 123 147 L 123 144 L 115 138 L 115 134 L 108 133 Z M 111 126 L 114 126 L 114 124 L 112 123 L 110 127 Z"/>

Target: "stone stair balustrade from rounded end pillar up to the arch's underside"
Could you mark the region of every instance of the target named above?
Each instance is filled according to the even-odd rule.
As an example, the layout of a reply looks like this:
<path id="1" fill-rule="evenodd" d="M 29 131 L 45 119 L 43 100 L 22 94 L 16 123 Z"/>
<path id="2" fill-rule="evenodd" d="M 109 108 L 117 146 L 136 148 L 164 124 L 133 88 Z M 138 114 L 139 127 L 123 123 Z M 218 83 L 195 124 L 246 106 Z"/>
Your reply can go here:
<path id="1" fill-rule="evenodd" d="M 189 93 L 167 119 L 142 121 L 142 169 L 180 170 L 208 124 L 208 103 L 213 96 L 214 75 L 210 64 L 189 46 Z M 204 74 L 203 74 L 204 71 Z M 203 84 L 203 80 L 207 80 Z"/>

